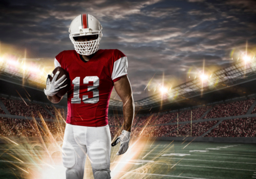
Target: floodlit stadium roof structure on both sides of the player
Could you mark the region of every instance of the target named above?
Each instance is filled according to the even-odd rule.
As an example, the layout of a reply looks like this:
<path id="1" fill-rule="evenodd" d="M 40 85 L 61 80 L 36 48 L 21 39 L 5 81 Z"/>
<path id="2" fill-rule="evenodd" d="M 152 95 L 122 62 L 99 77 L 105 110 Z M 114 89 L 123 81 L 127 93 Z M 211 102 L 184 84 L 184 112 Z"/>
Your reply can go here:
<path id="1" fill-rule="evenodd" d="M 211 74 L 210 78 L 202 81 L 200 78 L 190 80 L 183 84 L 177 85 L 170 89 L 166 94 L 156 94 L 142 100 L 135 102 L 136 109 L 151 109 L 157 108 L 163 105 L 173 104 L 186 99 L 195 98 L 198 96 L 205 95 L 207 93 L 213 93 L 215 91 L 221 91 L 222 89 L 230 86 L 240 85 L 242 83 L 256 80 L 256 64 L 248 63 L 245 61 L 239 61 L 226 68 L 215 71 Z M 34 76 L 34 73 L 28 73 L 24 75 L 20 69 L 13 69 L 8 65 L 0 65 L 0 80 L 5 82 L 15 83 L 17 85 L 29 86 L 42 91 L 42 86 L 45 86 L 45 81 Z M 252 83 L 246 83 L 247 87 L 253 86 Z M 3 83 L 7 85 L 7 83 Z M 14 85 L 14 84 L 13 84 Z M 10 87 L 10 85 L 8 85 Z M 256 87 L 256 86 L 255 86 Z M 18 87 L 17 87 L 18 88 Z M 251 87 L 253 88 L 253 87 Z M 253 88 L 254 89 L 254 88 Z M 9 89 L 3 89 L 2 93 L 10 93 Z M 13 92 L 13 95 L 16 92 Z M 32 92 L 31 92 L 32 93 Z M 227 94 L 227 92 L 225 92 Z M 252 93 L 252 92 L 251 92 Z M 255 93 L 255 90 L 254 92 Z M 208 95 L 209 96 L 209 95 Z M 234 95 L 233 95 L 234 96 Z M 36 97 L 35 97 L 36 98 Z M 66 96 L 65 96 L 66 98 Z M 188 101 L 188 100 L 187 100 Z M 65 102 L 63 101 L 63 104 Z M 117 110 L 122 109 L 122 102 L 111 99 L 109 106 Z M 148 111 L 148 110 L 147 110 Z"/>

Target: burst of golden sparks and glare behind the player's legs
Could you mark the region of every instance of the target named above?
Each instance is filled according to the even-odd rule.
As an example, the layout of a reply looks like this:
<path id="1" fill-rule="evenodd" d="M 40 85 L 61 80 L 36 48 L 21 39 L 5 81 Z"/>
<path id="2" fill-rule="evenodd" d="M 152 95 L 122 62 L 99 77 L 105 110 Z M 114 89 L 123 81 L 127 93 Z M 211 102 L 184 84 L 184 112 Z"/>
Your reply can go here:
<path id="1" fill-rule="evenodd" d="M 10 168 L 16 169 L 18 178 L 26 179 L 61 179 L 65 178 L 66 168 L 62 165 L 62 151 L 61 145 L 63 143 L 63 136 L 65 130 L 65 121 L 63 120 L 64 114 L 60 109 L 55 110 L 55 123 L 54 128 L 50 129 L 47 122 L 44 120 L 42 115 L 37 112 L 40 121 L 36 121 L 34 117 L 30 123 L 31 130 L 35 131 L 38 135 L 37 138 L 29 138 L 26 132 L 22 132 L 22 138 L 15 138 L 10 140 L 5 138 L 8 145 L 8 149 L 5 153 L 12 153 L 11 155 L 20 162 L 8 162 Z M 147 131 L 150 123 L 148 118 L 147 123 L 143 125 L 140 136 L 143 136 Z M 115 136 L 119 136 L 123 126 L 119 126 L 118 130 L 115 131 Z M 55 130 L 53 132 L 52 130 Z M 137 128 L 134 128 L 137 130 Z M 10 142 L 11 141 L 11 142 Z M 15 141 L 15 142 L 14 142 Z M 153 138 L 147 138 L 145 140 L 142 137 L 131 137 L 130 147 L 122 155 L 116 155 L 119 145 L 112 148 L 111 153 L 111 176 L 113 179 L 124 179 L 124 178 L 151 178 L 151 173 L 167 174 L 175 170 L 175 163 L 172 157 L 161 158 L 160 156 L 167 152 L 174 153 L 174 145 L 170 142 L 162 151 L 158 151 L 157 155 L 152 155 L 155 149 L 159 149 L 159 145 L 154 147 L 151 146 L 154 143 Z M 10 155 L 10 154 L 9 154 Z M 2 155 L 3 156 L 3 155 Z M 18 156 L 18 157 L 17 157 Z M 84 178 L 93 178 L 92 168 L 90 159 L 86 160 L 84 172 Z M 124 174 L 125 172 L 125 174 Z M 164 177 L 164 176 L 163 176 Z M 159 176 L 159 178 L 163 178 Z"/>

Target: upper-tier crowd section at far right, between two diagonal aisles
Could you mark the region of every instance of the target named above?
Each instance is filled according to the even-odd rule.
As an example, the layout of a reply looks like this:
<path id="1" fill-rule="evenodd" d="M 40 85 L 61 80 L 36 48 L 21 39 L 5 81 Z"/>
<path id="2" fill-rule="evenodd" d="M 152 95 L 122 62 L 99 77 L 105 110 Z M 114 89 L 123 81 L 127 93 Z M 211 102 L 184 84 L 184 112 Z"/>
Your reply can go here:
<path id="1" fill-rule="evenodd" d="M 228 117 L 228 116 L 239 116 L 245 115 L 249 109 L 249 107 L 254 102 L 255 98 L 224 103 L 224 104 L 217 104 L 209 111 L 209 113 L 204 117 L 204 119 L 211 119 L 211 118 L 221 118 L 221 117 Z"/>

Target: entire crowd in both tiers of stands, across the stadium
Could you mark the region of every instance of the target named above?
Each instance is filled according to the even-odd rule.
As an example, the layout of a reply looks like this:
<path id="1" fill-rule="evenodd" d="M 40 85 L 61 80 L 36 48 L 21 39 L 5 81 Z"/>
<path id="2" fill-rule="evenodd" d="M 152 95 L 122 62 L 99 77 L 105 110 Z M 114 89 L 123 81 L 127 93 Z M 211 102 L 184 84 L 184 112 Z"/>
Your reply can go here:
<path id="1" fill-rule="evenodd" d="M 41 114 L 44 119 L 54 119 L 52 115 L 55 116 L 60 113 L 64 120 L 67 117 L 67 110 L 63 108 L 57 109 L 53 106 L 42 106 L 32 102 L 2 97 L 0 99 L 11 115 L 34 116 L 38 118 Z M 204 106 L 174 113 L 151 114 L 150 116 L 143 117 L 136 116 L 133 121 L 132 137 L 176 137 L 177 135 L 199 137 L 217 124 L 218 121 L 192 123 L 192 132 L 190 123 L 179 124 L 179 130 L 177 131 L 177 113 L 179 115 L 179 122 L 190 121 L 191 111 L 193 114 L 192 120 L 199 120 L 209 108 L 211 110 L 204 119 L 244 115 L 254 100 L 253 98 L 226 104 L 217 104 L 212 108 L 211 106 Z M 49 111 L 52 115 L 49 114 Z M 256 113 L 256 107 L 252 111 L 252 114 L 254 113 Z M 0 114 L 5 114 L 1 107 Z M 176 124 L 160 125 L 168 123 Z M 46 124 L 53 135 L 58 135 L 61 132 L 63 134 L 65 130 L 65 125 L 59 127 L 59 124 L 56 122 L 46 122 Z M 109 125 L 112 138 L 115 135 L 119 136 L 123 129 L 123 117 L 117 115 L 109 116 Z M 43 129 L 44 127 L 42 126 L 44 126 L 44 123 L 41 121 L 37 121 L 36 124 L 33 120 L 0 118 L 0 135 L 5 137 L 46 136 L 46 129 Z M 205 137 L 256 137 L 256 118 L 224 120 Z"/>

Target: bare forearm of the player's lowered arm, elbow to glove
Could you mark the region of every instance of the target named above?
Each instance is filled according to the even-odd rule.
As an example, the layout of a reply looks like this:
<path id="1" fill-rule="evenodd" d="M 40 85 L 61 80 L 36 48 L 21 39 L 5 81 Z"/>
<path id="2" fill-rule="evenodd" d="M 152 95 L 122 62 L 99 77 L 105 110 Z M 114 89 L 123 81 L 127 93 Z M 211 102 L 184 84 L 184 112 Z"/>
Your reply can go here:
<path id="1" fill-rule="evenodd" d="M 123 119 L 124 130 L 131 132 L 134 118 L 134 101 L 130 97 L 125 103 L 123 103 Z"/>

